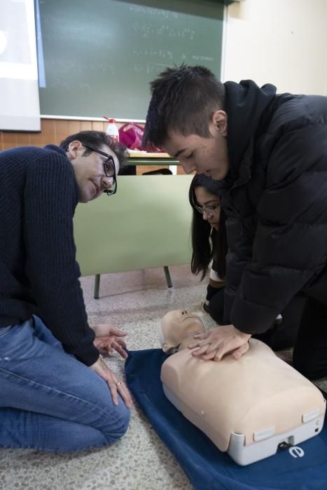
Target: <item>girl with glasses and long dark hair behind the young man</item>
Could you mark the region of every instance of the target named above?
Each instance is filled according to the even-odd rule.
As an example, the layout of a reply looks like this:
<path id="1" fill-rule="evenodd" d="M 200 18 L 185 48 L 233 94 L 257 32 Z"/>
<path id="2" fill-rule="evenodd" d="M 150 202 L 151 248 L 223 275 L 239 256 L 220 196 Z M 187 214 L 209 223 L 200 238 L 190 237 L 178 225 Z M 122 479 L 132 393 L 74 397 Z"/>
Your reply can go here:
<path id="1" fill-rule="evenodd" d="M 225 288 L 225 256 L 228 242 L 225 231 L 225 214 L 221 209 L 223 182 L 214 181 L 204 174 L 195 174 L 190 184 L 189 200 L 193 208 L 191 236 L 193 254 L 191 271 L 201 274 L 201 280 L 209 272 L 207 296 L 203 309 L 219 325 L 227 323 L 223 318 Z M 298 325 L 305 304 L 304 297 L 297 295 L 274 321 L 272 328 L 260 335 L 253 335 L 274 350 L 294 345 Z"/>

